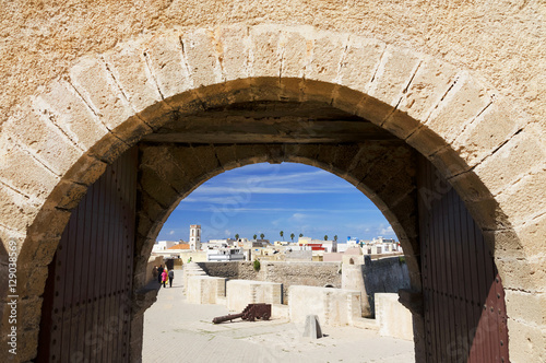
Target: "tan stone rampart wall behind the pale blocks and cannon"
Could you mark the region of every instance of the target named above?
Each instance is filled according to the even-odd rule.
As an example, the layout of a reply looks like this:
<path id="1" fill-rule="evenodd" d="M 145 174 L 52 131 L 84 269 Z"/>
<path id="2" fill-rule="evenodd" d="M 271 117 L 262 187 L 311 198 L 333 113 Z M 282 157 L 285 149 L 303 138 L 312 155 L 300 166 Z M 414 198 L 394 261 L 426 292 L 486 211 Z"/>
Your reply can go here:
<path id="1" fill-rule="evenodd" d="M 282 283 L 283 304 L 288 303 L 288 289 L 292 285 L 342 286 L 339 262 L 261 261 L 260 271 L 254 271 L 253 264 L 249 261 L 198 265 L 212 277 Z"/>

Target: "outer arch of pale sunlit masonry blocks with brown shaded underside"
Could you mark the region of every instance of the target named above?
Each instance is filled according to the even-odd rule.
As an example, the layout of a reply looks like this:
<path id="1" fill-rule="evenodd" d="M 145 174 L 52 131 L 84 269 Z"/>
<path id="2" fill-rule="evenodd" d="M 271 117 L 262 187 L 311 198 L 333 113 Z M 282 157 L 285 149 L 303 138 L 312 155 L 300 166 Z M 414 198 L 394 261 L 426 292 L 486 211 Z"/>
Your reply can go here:
<path id="1" fill-rule="evenodd" d="M 34 356 L 47 265 L 86 187 L 173 110 L 251 101 L 329 103 L 429 159 L 495 251 L 512 356 L 544 359 L 544 125 L 439 59 L 353 34 L 275 24 L 142 35 L 81 59 L 2 125 L 2 269 L 13 243 L 22 347 L 29 347 L 22 359 Z"/>

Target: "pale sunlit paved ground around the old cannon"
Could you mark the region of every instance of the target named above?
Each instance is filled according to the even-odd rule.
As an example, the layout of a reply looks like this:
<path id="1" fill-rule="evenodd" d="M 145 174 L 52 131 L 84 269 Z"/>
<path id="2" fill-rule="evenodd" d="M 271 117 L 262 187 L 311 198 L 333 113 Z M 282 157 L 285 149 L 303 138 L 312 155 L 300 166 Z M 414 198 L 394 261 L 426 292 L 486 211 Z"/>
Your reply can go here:
<path id="1" fill-rule="evenodd" d="M 212 324 L 223 305 L 188 304 L 181 271 L 162 289 L 144 315 L 143 361 L 150 362 L 414 362 L 413 342 L 376 331 L 322 327 L 327 337 L 309 341 L 302 327 L 285 319 Z"/>

